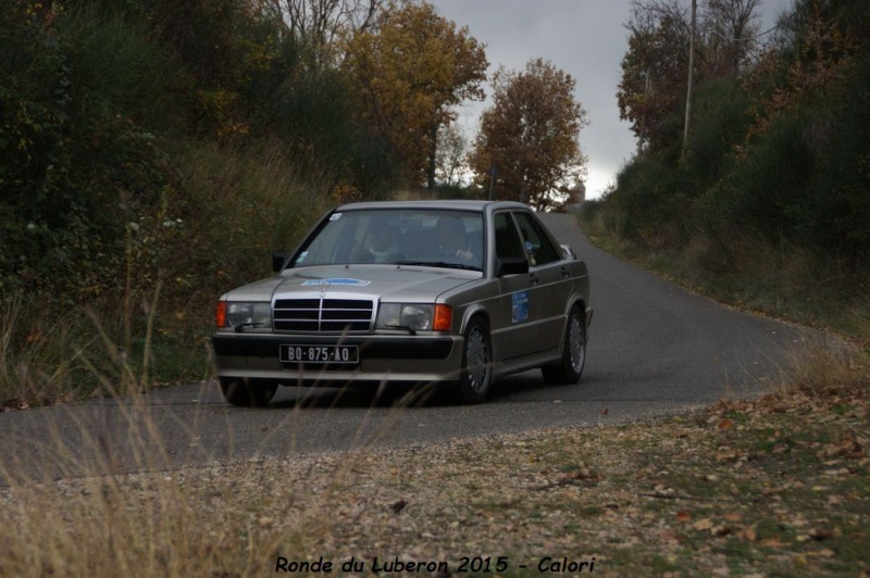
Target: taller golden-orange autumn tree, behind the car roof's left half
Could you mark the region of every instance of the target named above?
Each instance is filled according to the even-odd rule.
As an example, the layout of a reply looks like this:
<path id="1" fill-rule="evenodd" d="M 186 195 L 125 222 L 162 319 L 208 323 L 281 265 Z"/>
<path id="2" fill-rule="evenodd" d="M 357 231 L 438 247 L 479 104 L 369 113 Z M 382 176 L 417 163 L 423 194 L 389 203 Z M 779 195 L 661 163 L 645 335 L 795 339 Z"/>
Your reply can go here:
<path id="1" fill-rule="evenodd" d="M 407 178 L 435 184 L 438 129 L 452 108 L 482 100 L 484 47 L 432 4 L 409 3 L 347 45 L 344 70 L 360 118 L 402 159 Z"/>

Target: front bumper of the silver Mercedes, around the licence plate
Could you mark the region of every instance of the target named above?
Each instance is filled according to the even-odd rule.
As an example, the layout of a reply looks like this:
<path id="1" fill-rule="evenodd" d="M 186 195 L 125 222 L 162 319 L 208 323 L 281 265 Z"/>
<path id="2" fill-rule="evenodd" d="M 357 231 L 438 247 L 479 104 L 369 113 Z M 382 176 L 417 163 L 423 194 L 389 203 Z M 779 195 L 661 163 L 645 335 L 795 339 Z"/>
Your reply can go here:
<path id="1" fill-rule="evenodd" d="M 283 386 L 349 382 L 453 381 L 462 363 L 460 336 L 323 336 L 237 334 L 212 336 L 221 379 L 277 381 Z M 357 364 L 282 363 L 281 345 L 357 345 Z"/>

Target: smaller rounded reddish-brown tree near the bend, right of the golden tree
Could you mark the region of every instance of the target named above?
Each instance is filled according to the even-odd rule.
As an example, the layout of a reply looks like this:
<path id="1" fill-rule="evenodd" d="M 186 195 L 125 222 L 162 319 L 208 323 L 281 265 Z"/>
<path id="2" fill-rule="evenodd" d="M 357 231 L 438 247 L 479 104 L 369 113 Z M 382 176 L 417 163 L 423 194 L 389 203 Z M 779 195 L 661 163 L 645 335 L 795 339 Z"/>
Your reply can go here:
<path id="1" fill-rule="evenodd" d="M 586 111 L 574 100 L 571 75 L 542 59 L 522 72 L 504 67 L 493 79 L 469 164 L 483 186 L 496 169 L 494 193 L 537 210 L 563 203 L 584 174 L 580 130 Z"/>

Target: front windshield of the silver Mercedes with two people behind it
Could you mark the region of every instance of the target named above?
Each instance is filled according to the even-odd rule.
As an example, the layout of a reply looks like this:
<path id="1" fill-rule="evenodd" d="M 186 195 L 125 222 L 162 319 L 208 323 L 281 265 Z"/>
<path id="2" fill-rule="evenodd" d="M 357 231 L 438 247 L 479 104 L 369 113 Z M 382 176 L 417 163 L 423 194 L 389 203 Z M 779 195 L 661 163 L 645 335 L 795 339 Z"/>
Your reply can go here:
<path id="1" fill-rule="evenodd" d="M 336 212 L 289 266 L 358 263 L 483 271 L 483 215 L 427 209 Z"/>

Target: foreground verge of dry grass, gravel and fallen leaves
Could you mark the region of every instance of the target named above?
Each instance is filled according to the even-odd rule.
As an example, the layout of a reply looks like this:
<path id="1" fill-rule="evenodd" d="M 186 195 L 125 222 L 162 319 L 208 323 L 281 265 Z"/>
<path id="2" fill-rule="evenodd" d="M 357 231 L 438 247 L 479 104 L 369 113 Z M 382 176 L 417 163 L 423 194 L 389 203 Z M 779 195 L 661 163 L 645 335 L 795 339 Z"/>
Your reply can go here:
<path id="1" fill-rule="evenodd" d="M 811 347 L 759 400 L 651 424 L 150 474 L 95 458 L 90 477 L 2 491 L 0 575 L 343 574 L 351 557 L 360 575 L 375 557 L 456 573 L 475 556 L 504 556 L 505 576 L 546 556 L 610 576 L 858 575 L 868 386 L 866 356 Z"/>

